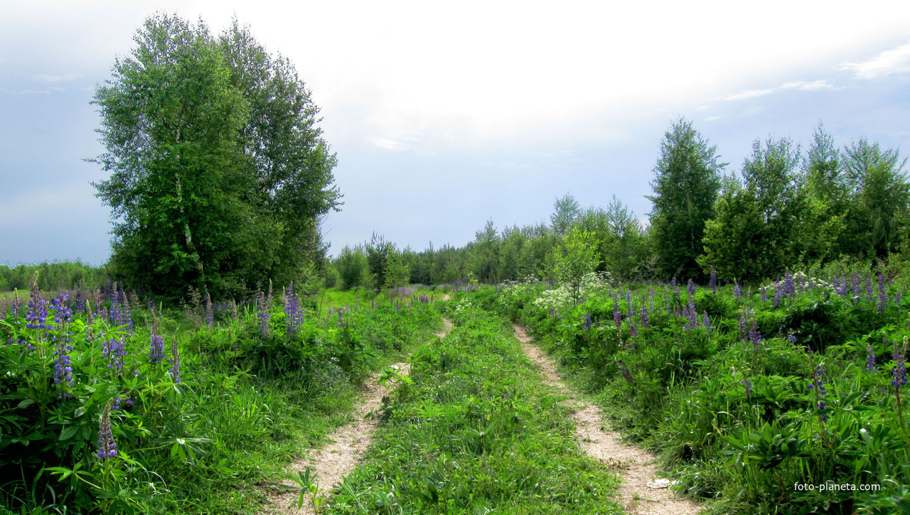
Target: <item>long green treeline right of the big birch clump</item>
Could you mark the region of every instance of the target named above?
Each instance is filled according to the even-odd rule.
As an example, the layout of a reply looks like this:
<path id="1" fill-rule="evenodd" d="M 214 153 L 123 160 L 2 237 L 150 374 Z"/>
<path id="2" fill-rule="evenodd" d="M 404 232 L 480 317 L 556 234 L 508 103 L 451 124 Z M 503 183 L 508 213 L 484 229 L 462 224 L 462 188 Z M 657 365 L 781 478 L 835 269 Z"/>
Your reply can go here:
<path id="1" fill-rule="evenodd" d="M 498 230 L 490 220 L 464 247 L 418 252 L 381 236 L 344 247 L 328 282 L 394 286 L 384 273 L 389 259 L 412 283 L 550 280 L 571 232 L 587 233 L 597 271 L 624 281 L 704 283 L 715 268 L 724 281 L 756 284 L 787 268 L 863 262 L 893 274 L 910 265 L 910 181 L 896 149 L 866 139 L 839 148 L 819 126 L 805 153 L 788 138 L 755 140 L 738 173 L 725 167 L 716 147 L 680 119 L 661 142 L 647 223 L 615 196 L 584 209 L 567 194 L 549 224 Z"/>

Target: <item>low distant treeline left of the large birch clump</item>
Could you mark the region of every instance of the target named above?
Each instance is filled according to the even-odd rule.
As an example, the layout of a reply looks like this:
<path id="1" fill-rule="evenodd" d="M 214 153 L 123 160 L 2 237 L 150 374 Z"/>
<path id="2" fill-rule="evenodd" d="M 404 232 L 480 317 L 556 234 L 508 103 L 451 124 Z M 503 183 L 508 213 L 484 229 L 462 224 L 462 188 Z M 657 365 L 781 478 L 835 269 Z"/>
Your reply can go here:
<path id="1" fill-rule="evenodd" d="M 0 265 L 0 291 L 15 288 L 27 290 L 37 272 L 38 288 L 59 290 L 74 288 L 80 282 L 85 288 L 95 288 L 107 280 L 105 267 L 93 267 L 79 261 L 57 261 L 38 265 Z"/>

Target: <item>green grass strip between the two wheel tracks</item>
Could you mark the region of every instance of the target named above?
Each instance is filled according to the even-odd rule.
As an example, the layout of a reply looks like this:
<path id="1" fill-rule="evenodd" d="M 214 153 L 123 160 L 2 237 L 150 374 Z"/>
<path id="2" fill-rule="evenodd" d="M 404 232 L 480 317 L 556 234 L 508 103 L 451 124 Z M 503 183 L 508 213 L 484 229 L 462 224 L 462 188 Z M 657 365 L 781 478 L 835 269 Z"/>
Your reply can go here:
<path id="1" fill-rule="evenodd" d="M 511 326 L 477 309 L 418 348 L 367 459 L 331 513 L 620 513 L 617 479 L 584 455 L 561 398 Z"/>

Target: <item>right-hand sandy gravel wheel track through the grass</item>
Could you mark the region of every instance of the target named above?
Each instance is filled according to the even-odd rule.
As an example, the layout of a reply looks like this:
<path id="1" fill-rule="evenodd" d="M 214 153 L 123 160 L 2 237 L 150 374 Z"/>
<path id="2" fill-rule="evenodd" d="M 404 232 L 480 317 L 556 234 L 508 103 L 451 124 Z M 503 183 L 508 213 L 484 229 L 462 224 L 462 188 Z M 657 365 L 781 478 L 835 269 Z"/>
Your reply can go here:
<path id="1" fill-rule="evenodd" d="M 579 399 L 578 394 L 561 381 L 553 360 L 531 344 L 531 337 L 523 328 L 514 328 L 521 350 L 541 368 L 544 382 L 561 389 L 571 407 L 576 409 L 572 418 L 581 449 L 619 470 L 622 485 L 618 495 L 626 512 L 630 515 L 695 515 L 701 512 L 697 503 L 675 495 L 669 488 L 649 487 L 649 483 L 662 486 L 654 483 L 658 481 L 656 457 L 636 445 L 623 443 L 620 433 L 604 429 L 600 409 Z"/>

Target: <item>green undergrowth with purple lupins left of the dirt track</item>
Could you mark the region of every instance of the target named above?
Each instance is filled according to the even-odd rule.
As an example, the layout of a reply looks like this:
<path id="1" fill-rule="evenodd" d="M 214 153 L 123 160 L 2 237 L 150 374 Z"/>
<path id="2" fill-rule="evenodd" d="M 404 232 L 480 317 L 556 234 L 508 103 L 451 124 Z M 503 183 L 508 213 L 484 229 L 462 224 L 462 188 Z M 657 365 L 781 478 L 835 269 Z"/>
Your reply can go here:
<path id="1" fill-rule="evenodd" d="M 264 337 L 251 309 L 235 318 L 228 307 L 199 328 L 195 315 L 160 318 L 136 302 L 130 322 L 126 304 L 105 301 L 104 315 L 64 321 L 76 306 L 62 298 L 46 318 L 26 322 L 24 307 L 0 319 L 0 507 L 15 512 L 258 509 L 255 485 L 278 480 L 301 442 L 332 429 L 330 416 L 349 407 L 370 369 L 439 326 L 431 304 L 355 302 L 328 318 L 305 309 L 291 332 L 288 308 L 276 306 Z M 31 327 L 41 323 L 49 328 Z M 151 356 L 153 335 L 165 338 L 164 358 Z M 72 384 L 55 381 L 65 357 Z M 117 454 L 100 459 L 106 410 Z"/>

